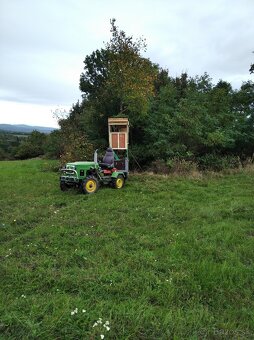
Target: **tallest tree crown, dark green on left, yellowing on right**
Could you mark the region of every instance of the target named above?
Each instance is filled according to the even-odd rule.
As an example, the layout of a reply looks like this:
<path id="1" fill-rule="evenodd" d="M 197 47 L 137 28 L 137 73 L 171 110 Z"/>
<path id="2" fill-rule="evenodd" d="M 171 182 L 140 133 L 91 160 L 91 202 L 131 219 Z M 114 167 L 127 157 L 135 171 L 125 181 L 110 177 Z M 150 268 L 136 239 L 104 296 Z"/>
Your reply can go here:
<path id="1" fill-rule="evenodd" d="M 80 89 L 103 124 L 110 115 L 118 114 L 136 122 L 148 112 L 158 68 L 141 56 L 146 49 L 144 39 L 134 41 L 118 29 L 115 19 L 111 20 L 111 34 L 105 48 L 85 58 Z"/>

